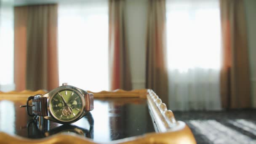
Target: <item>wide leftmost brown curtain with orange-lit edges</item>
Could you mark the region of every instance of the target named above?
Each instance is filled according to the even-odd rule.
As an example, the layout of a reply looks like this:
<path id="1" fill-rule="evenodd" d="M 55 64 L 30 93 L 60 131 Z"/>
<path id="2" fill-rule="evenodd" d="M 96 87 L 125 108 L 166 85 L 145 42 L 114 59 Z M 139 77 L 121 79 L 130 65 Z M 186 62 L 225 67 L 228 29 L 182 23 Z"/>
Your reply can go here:
<path id="1" fill-rule="evenodd" d="M 15 7 L 14 19 L 16 90 L 58 87 L 57 5 Z"/>

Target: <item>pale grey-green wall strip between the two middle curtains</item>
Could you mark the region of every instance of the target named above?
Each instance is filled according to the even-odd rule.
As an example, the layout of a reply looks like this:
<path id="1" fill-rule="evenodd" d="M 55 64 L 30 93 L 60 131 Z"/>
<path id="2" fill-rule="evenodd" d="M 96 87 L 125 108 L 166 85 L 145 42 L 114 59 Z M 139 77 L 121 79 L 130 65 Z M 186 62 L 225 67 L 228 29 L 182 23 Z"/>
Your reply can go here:
<path id="1" fill-rule="evenodd" d="M 133 89 L 145 88 L 147 0 L 125 1 L 125 30 Z"/>

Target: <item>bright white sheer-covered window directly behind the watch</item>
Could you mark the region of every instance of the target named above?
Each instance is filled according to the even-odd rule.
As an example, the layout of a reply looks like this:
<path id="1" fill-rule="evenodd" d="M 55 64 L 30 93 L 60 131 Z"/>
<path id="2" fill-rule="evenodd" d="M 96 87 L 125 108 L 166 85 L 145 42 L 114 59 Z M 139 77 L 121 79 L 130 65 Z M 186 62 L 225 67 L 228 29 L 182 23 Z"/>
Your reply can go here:
<path id="1" fill-rule="evenodd" d="M 59 82 L 84 90 L 108 90 L 108 3 L 60 3 Z"/>

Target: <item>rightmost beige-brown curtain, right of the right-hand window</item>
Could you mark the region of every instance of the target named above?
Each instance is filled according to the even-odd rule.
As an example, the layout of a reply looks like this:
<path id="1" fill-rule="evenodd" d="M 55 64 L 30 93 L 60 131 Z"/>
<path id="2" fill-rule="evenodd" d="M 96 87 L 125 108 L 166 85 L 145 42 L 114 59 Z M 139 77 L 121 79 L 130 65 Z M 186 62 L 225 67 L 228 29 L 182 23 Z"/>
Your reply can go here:
<path id="1" fill-rule="evenodd" d="M 243 0 L 221 0 L 221 100 L 224 108 L 251 107 Z"/>

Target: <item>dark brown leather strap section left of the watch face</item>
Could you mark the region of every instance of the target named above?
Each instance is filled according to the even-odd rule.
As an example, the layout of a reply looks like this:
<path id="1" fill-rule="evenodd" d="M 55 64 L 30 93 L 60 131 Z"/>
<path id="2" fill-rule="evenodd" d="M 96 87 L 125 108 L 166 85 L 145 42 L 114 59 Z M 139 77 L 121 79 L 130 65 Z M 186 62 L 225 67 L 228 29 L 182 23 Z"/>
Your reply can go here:
<path id="1" fill-rule="evenodd" d="M 47 98 L 37 95 L 32 99 L 32 114 L 48 116 Z"/>

